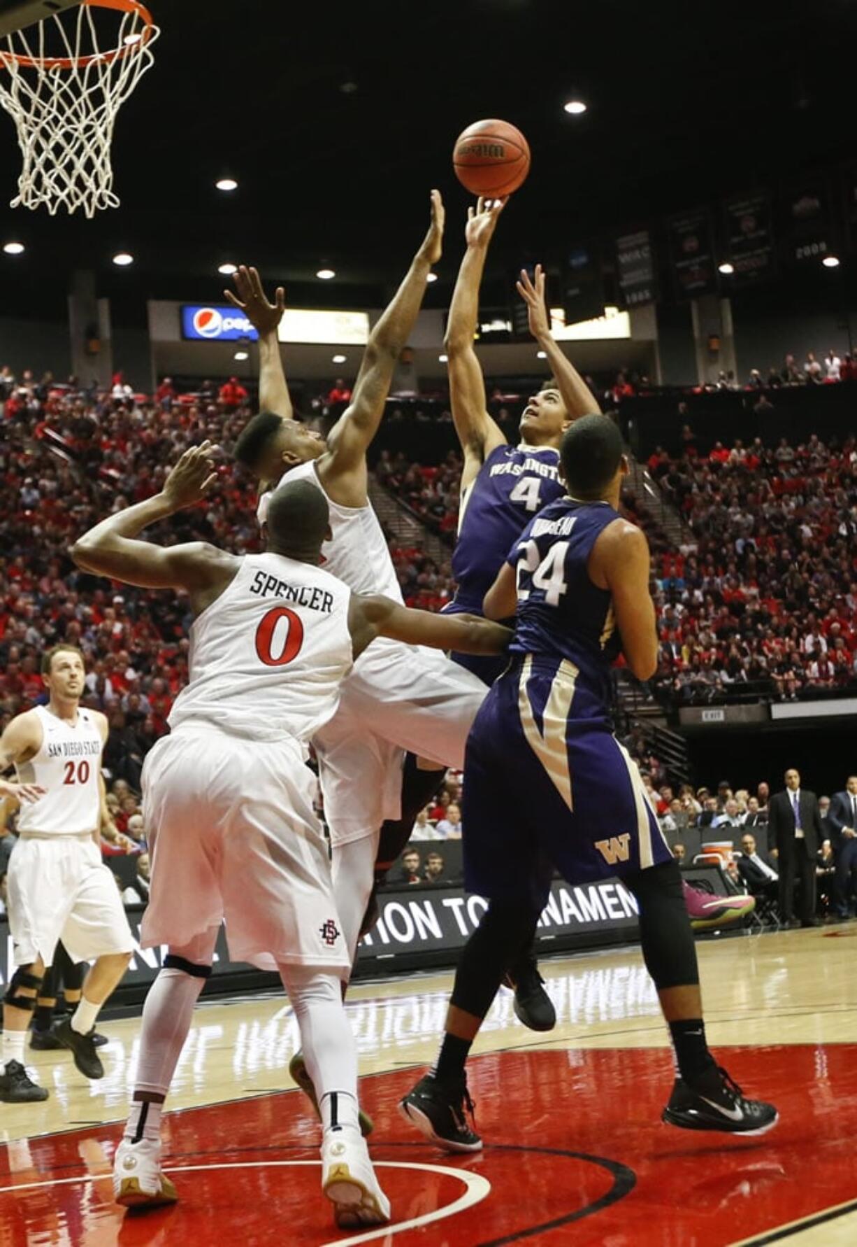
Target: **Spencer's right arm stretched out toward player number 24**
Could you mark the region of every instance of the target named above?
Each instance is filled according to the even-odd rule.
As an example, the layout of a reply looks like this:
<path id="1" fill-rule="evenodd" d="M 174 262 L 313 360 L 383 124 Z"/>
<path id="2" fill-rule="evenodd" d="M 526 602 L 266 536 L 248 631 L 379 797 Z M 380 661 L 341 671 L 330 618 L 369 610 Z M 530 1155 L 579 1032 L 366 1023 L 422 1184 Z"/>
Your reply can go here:
<path id="1" fill-rule="evenodd" d="M 355 658 L 377 636 L 406 645 L 456 650 L 458 653 L 504 653 L 512 640 L 509 628 L 478 615 L 435 615 L 410 610 L 380 595 L 351 596 L 349 627 Z"/>

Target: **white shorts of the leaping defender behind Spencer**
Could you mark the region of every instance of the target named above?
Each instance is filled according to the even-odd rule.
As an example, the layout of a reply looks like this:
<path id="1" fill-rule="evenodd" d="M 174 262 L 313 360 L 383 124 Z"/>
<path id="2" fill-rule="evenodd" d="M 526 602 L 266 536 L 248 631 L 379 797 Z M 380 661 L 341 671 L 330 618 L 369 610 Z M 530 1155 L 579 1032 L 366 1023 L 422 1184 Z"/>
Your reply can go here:
<path id="1" fill-rule="evenodd" d="M 487 692 L 440 650 L 374 641 L 343 683 L 333 720 L 313 738 L 333 844 L 401 817 L 405 749 L 461 768 Z"/>

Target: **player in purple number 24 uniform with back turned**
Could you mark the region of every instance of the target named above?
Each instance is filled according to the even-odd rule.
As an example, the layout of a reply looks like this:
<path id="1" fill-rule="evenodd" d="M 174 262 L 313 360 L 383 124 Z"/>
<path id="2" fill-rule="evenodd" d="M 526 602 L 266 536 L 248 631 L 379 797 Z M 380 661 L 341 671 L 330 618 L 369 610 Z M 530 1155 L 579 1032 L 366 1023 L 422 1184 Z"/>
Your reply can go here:
<path id="1" fill-rule="evenodd" d="M 628 460 L 613 421 L 575 421 L 562 471 L 568 494 L 528 525 L 485 600 L 490 617 L 517 605 L 509 666 L 476 716 L 465 761 L 465 884 L 488 909 L 458 960 L 437 1065 L 401 1111 L 450 1151 L 481 1148 L 467 1122 L 465 1062 L 556 867 L 573 884 L 619 875 L 637 900 L 678 1067 L 663 1120 L 762 1134 L 776 1109 L 745 1099 L 709 1051 L 679 867 L 610 727 L 619 648 L 640 680 L 658 665 L 649 546 L 618 514 Z"/>

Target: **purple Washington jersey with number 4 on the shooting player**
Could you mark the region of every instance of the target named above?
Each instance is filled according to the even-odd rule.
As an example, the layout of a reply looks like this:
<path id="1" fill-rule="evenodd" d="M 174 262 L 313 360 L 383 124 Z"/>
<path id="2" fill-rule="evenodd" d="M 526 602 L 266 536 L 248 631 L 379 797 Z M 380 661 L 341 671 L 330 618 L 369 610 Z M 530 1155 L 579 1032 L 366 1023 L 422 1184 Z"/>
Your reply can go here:
<path id="1" fill-rule="evenodd" d="M 452 575 L 456 605 L 482 614 L 482 600 L 509 546 L 543 506 L 561 498 L 554 446 L 497 446 L 461 499 Z"/>

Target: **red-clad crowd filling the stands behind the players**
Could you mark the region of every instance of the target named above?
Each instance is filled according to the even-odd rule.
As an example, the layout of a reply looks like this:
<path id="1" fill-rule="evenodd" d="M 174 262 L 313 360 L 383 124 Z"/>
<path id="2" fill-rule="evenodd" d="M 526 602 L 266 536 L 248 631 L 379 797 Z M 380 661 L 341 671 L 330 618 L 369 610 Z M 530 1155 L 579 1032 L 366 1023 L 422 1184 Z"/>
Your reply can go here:
<path id="1" fill-rule="evenodd" d="M 840 377 L 842 377 L 840 369 Z M 506 395 L 512 398 L 513 395 Z M 336 382 L 323 408 L 348 402 Z M 514 416 L 492 398 L 514 435 Z M 67 549 L 102 515 L 156 493 L 189 444 L 224 448 L 219 488 L 183 511 L 158 540 L 258 549 L 255 488 L 227 466 L 250 414 L 235 378 L 178 393 L 166 378 L 151 398 L 121 374 L 100 392 L 50 374 L 0 368 L 0 728 L 44 697 L 44 648 L 80 645 L 86 705 L 110 721 L 105 768 L 116 839 L 107 853 L 142 854 L 140 774 L 187 678 L 189 614 L 171 592 L 110 586 L 80 572 Z M 681 451 L 658 449 L 649 470 L 688 525 L 670 544 L 644 501 L 625 503 L 649 530 L 659 609 L 660 670 L 653 692 L 671 702 L 747 696 L 798 698 L 857 680 L 857 443 L 811 435 L 803 444 L 716 443 L 701 453 L 685 425 Z M 461 456 L 422 465 L 382 451 L 379 480 L 452 546 Z M 391 544 L 409 605 L 440 610 L 455 585 L 448 560 Z M 666 776 L 643 738 L 628 742 L 651 782 Z M 447 792 L 446 803 L 460 794 Z M 676 798 L 678 799 L 678 798 Z M 699 812 L 698 812 L 699 813 Z M 703 811 L 701 813 L 705 813 Z M 426 838 L 456 837 L 456 818 L 426 812 Z"/>

